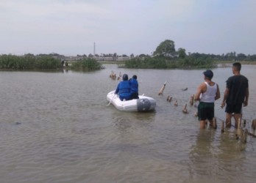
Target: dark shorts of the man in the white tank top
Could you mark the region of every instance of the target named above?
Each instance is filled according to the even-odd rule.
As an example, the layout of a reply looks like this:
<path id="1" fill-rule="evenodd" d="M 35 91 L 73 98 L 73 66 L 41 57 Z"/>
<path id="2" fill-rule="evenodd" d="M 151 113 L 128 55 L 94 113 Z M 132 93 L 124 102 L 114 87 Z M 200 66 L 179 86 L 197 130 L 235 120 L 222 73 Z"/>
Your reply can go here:
<path id="1" fill-rule="evenodd" d="M 214 103 L 199 102 L 198 109 L 198 120 L 212 120 L 214 117 Z"/>

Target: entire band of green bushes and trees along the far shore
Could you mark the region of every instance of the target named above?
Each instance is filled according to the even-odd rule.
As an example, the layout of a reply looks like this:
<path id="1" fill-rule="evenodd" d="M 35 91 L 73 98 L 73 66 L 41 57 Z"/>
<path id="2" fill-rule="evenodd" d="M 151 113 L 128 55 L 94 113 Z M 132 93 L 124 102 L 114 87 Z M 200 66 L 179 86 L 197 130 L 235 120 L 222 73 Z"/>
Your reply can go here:
<path id="1" fill-rule="evenodd" d="M 113 61 L 119 57 L 117 53 L 101 54 L 104 57 L 112 57 Z M 77 55 L 82 58 L 72 63 L 74 70 L 99 70 L 102 66 L 96 61 L 95 57 L 89 54 L 86 56 Z M 122 57 L 128 57 L 123 54 Z M 50 53 L 33 55 L 27 53 L 24 56 L 0 55 L 0 69 L 12 70 L 32 70 L 32 69 L 57 69 L 63 67 L 61 59 L 65 56 Z M 127 68 L 149 68 L 149 69 L 168 69 L 168 68 L 210 68 L 216 66 L 216 61 L 255 61 L 256 55 L 245 55 L 243 53 L 230 52 L 221 55 L 205 54 L 205 53 L 186 53 L 185 48 L 176 50 L 173 40 L 165 40 L 160 42 L 156 50 L 151 55 L 140 54 L 134 56 L 131 54 L 129 59 L 124 62 Z"/>

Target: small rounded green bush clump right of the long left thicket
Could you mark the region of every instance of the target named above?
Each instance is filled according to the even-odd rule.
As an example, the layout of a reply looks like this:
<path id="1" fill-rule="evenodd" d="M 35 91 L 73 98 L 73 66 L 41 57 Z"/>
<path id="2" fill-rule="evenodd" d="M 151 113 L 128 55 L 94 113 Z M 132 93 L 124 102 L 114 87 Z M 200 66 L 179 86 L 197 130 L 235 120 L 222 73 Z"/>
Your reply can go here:
<path id="1" fill-rule="evenodd" d="M 84 70 L 84 71 L 92 71 L 92 70 L 100 70 L 102 64 L 99 64 L 95 59 L 82 59 L 82 61 L 76 61 L 72 64 L 71 69 L 73 70 Z"/>

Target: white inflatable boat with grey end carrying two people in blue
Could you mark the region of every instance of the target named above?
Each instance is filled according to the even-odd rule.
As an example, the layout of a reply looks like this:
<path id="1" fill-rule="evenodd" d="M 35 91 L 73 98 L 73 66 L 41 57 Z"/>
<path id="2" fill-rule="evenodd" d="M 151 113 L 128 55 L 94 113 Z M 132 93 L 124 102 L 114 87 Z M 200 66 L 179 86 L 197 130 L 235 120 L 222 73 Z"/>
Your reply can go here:
<path id="1" fill-rule="evenodd" d="M 115 108 L 120 111 L 142 112 L 154 110 L 157 102 L 152 97 L 146 97 L 144 95 L 139 95 L 138 97 L 139 99 L 121 101 L 118 94 L 115 94 L 115 90 L 110 91 L 107 94 L 107 100 L 109 101 L 109 105 L 110 103 L 112 103 Z"/>

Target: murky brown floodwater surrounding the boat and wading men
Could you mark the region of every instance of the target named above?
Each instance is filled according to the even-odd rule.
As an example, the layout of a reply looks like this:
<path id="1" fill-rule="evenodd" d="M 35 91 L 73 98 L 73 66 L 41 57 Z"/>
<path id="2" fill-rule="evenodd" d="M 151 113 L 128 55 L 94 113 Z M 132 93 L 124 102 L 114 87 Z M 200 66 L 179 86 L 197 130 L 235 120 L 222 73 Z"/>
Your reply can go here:
<path id="1" fill-rule="evenodd" d="M 213 70 L 221 90 L 218 128 L 199 130 L 189 100 L 203 70 L 104 66 L 96 72 L 0 72 L 0 182 L 255 182 L 256 138 L 249 136 L 241 151 L 233 127 L 221 133 L 219 106 L 230 67 Z M 140 94 L 157 100 L 155 111 L 107 106 L 107 92 L 118 84 L 109 78 L 112 70 L 138 75 Z M 249 78 L 248 128 L 256 119 L 255 70 L 241 70 Z"/>

